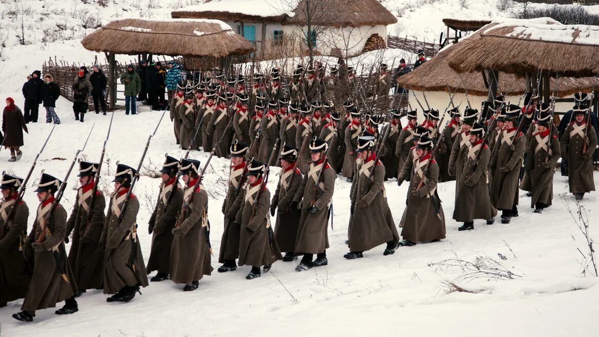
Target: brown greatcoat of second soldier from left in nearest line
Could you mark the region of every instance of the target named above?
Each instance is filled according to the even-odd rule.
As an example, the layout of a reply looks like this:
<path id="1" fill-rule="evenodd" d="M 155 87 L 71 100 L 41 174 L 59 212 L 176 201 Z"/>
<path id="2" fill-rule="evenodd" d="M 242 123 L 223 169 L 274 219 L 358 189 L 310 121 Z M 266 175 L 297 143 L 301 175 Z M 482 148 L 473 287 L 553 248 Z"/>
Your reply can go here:
<path id="1" fill-rule="evenodd" d="M 48 206 L 44 205 L 44 207 L 48 207 L 49 209 L 52 207 L 50 206 L 51 204 L 49 203 Z M 42 205 L 43 203 L 38 207 L 34 226 L 31 228 L 31 233 L 29 233 L 25 242 L 26 249 L 33 249 L 32 243 L 37 242 L 43 231 L 40 221 L 38 221 L 38 218 L 41 216 Z M 47 216 L 47 213 L 45 216 Z M 23 305 L 21 306 L 22 310 L 32 313 L 38 309 L 55 308 L 56 303 L 70 299 L 78 291 L 77 281 L 73 277 L 71 266 L 66 258 L 65 243 L 63 242 L 66 231 L 66 210 L 60 204 L 56 206 L 56 209 L 52 213 L 48 227 L 44 225 L 44 228 L 47 229 L 44 241 L 41 242 L 44 250 L 34 251 L 34 272 L 31 276 L 25 300 L 23 300 Z M 60 263 L 65 271 L 68 282 L 60 276 L 53 249 L 58 249 Z"/>

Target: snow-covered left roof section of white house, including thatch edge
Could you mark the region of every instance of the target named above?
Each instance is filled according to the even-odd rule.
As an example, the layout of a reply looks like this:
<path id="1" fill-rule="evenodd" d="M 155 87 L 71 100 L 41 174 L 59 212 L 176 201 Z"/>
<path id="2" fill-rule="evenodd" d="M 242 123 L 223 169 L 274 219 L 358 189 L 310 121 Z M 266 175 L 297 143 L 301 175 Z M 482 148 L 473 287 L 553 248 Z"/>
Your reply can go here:
<path id="1" fill-rule="evenodd" d="M 171 17 L 274 23 L 283 22 L 292 9 L 282 0 L 204 0 L 172 11 Z"/>

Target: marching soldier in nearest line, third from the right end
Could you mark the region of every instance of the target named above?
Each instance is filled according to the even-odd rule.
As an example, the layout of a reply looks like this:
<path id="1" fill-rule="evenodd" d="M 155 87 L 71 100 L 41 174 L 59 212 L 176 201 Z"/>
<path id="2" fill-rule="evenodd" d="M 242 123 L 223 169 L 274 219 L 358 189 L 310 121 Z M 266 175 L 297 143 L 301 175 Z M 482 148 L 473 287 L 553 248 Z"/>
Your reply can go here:
<path id="1" fill-rule="evenodd" d="M 521 110 L 515 104 L 507 106 L 504 130 L 491 154 L 491 202 L 501 210 L 502 224 L 518 216 L 518 179 L 525 142 L 522 132 L 516 134 Z"/>

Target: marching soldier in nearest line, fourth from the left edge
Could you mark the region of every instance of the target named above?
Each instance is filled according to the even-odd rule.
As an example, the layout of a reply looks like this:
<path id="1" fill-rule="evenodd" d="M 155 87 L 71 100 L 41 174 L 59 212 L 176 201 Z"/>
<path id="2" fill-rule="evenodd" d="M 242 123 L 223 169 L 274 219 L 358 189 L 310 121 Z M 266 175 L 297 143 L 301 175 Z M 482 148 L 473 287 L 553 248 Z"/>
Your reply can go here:
<path id="1" fill-rule="evenodd" d="M 135 173 L 137 171 L 132 167 L 118 164 L 114 175 L 114 194 L 108 204 L 110 215 L 106 216 L 100 239 L 100 248 L 105 249 L 104 294 L 112 294 L 106 302 L 129 302 L 140 287 L 148 285 L 146 265 L 137 237 L 140 201 L 133 193 L 129 195 L 121 218 Z"/>

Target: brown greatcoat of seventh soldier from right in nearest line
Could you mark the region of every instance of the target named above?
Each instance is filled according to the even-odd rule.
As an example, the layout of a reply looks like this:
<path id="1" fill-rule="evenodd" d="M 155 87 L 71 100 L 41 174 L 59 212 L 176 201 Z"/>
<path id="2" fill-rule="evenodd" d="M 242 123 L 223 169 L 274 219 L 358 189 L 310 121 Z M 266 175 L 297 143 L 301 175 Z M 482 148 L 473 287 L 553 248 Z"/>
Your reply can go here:
<path id="1" fill-rule="evenodd" d="M 322 162 L 321 162 L 322 163 Z M 355 163 L 353 161 L 352 163 Z M 327 224 L 329 220 L 329 204 L 335 189 L 337 174 L 328 164 L 320 175 L 319 187 L 314 189 L 318 170 L 314 170 L 314 164 L 310 163 L 307 173 L 304 174 L 298 191 L 295 192 L 294 201 L 301 202 L 301 216 L 299 218 L 298 238 L 295 242 L 295 252 L 319 254 L 329 248 Z M 314 171 L 313 174 L 310 174 Z M 316 192 L 316 195 L 314 195 Z M 314 206 L 318 212 L 311 214 L 308 209 L 314 200 Z"/>

